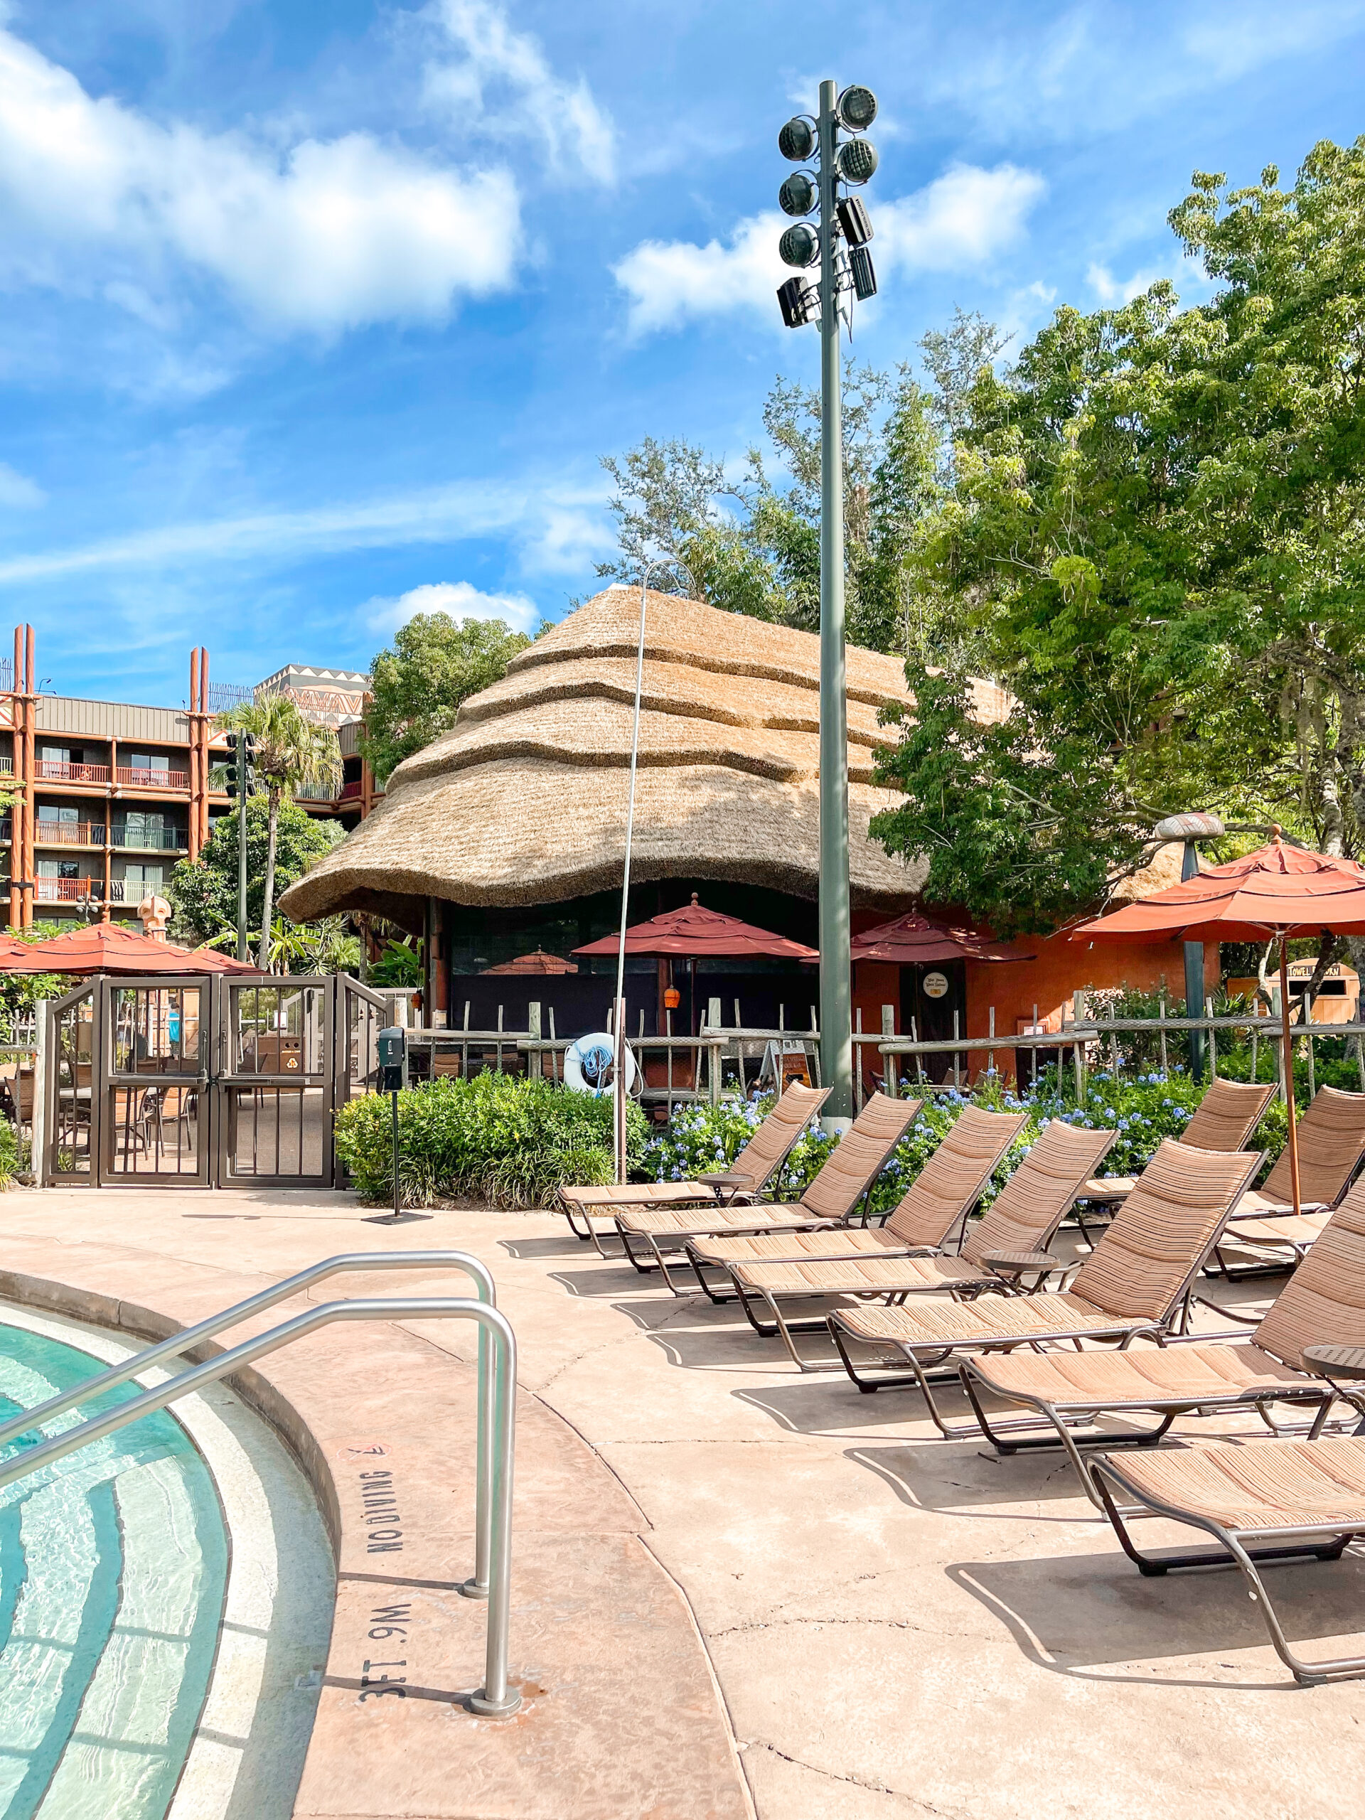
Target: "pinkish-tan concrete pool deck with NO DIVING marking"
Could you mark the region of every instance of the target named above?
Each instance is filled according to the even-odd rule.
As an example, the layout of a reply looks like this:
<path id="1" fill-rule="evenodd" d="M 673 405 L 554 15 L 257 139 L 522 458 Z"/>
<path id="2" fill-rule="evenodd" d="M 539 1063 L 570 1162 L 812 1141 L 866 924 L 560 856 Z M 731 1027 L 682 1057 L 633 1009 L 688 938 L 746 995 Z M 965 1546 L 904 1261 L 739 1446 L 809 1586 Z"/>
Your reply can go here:
<path id="1" fill-rule="evenodd" d="M 459 1704 L 484 1629 L 453 1591 L 473 1547 L 471 1330 L 331 1329 L 244 1385 L 340 1551 L 298 1815 L 1360 1815 L 1365 1682 L 1296 1689 L 1232 1574 L 1143 1580 L 1056 1454 L 996 1460 L 935 1438 L 912 1394 L 803 1378 L 732 1309 L 673 1299 L 561 1218 L 364 1212 L 282 1190 L 0 1201 L 0 1294 L 142 1332 L 339 1250 L 459 1247 L 493 1269 L 521 1347 L 511 1720 Z M 309 1299 L 451 1290 L 375 1274 Z M 375 1471 L 402 1529 L 379 1554 Z M 1360 1554 L 1270 1572 L 1307 1654 L 1365 1631 Z M 402 1634 L 373 1640 L 386 1629 Z M 386 1673 L 402 1696 L 373 1696 Z"/>

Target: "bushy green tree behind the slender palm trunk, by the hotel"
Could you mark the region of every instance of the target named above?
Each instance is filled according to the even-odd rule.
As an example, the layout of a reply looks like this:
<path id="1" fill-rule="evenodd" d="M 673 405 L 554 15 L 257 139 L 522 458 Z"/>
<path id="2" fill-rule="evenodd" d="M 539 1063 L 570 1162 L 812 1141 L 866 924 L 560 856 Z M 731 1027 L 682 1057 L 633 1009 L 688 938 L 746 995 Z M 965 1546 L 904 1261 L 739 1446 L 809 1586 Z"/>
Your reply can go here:
<path id="1" fill-rule="evenodd" d="M 237 939 L 237 835 L 240 815 L 220 815 L 213 823 L 198 859 L 182 859 L 171 874 L 169 897 L 175 906 L 177 939 L 231 945 Z M 275 815 L 275 886 L 286 890 L 315 861 L 329 854 L 346 830 L 339 821 L 322 821 L 280 803 Z M 271 815 L 264 797 L 251 797 L 246 815 L 246 914 L 251 926 L 266 915 L 266 874 L 269 864 Z"/>

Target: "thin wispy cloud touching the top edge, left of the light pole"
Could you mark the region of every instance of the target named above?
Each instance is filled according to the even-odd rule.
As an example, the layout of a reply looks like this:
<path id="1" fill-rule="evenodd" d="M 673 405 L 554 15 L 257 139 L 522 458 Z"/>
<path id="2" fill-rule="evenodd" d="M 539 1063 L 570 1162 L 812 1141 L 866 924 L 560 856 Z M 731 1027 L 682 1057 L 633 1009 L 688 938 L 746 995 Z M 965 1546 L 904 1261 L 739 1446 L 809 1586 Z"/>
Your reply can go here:
<path id="1" fill-rule="evenodd" d="M 477 126 L 499 138 L 539 138 L 551 171 L 582 169 L 599 184 L 615 178 L 615 127 L 579 76 L 564 82 L 541 44 L 513 31 L 490 0 L 433 0 L 422 18 L 462 56 L 431 58 L 426 102 L 464 131 Z"/>

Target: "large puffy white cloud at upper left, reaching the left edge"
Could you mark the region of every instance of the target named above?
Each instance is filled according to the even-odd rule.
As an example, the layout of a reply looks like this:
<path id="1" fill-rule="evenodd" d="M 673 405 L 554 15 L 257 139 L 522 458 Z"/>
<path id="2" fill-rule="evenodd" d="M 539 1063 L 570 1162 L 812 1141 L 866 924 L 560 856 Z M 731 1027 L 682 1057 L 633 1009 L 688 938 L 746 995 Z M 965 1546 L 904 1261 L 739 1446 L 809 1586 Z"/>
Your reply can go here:
<path id="1" fill-rule="evenodd" d="M 284 151 L 160 126 L 0 31 L 0 273 L 100 291 L 144 320 L 193 273 L 258 322 L 335 335 L 439 320 L 511 280 L 506 171 L 455 171 L 369 133 Z"/>

